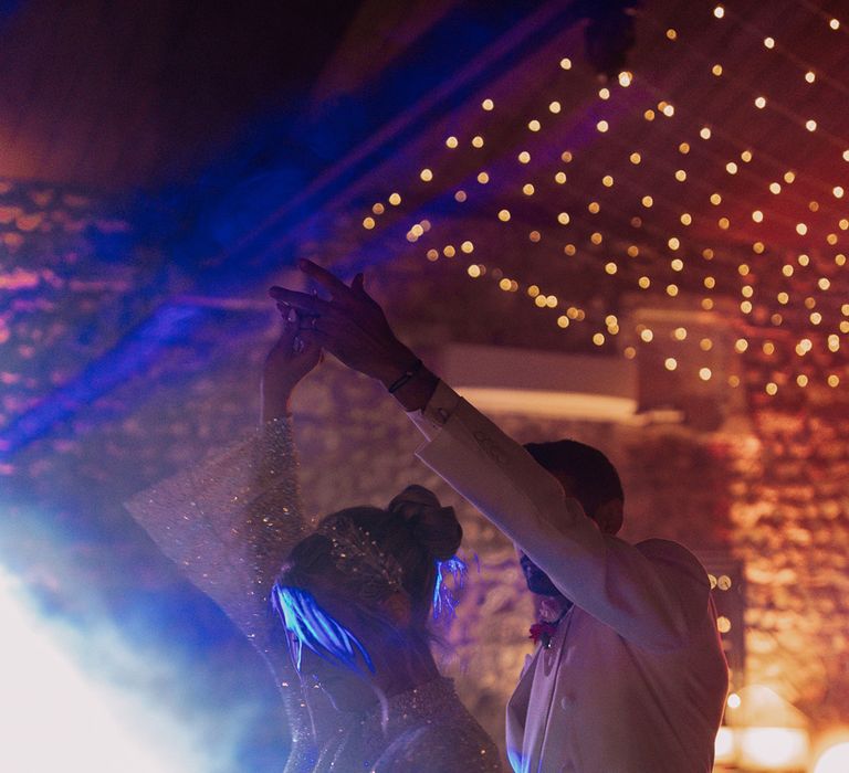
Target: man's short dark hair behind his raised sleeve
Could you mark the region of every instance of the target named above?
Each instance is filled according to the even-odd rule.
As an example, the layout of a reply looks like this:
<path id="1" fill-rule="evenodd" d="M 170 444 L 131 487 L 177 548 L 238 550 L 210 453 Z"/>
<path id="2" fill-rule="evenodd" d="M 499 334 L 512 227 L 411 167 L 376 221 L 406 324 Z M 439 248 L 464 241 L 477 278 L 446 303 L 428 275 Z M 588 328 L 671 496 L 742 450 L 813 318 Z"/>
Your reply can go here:
<path id="1" fill-rule="evenodd" d="M 598 448 L 564 440 L 526 443 L 525 449 L 555 477 L 566 478 L 573 495 L 590 518 L 611 499 L 625 502 L 619 473 Z"/>

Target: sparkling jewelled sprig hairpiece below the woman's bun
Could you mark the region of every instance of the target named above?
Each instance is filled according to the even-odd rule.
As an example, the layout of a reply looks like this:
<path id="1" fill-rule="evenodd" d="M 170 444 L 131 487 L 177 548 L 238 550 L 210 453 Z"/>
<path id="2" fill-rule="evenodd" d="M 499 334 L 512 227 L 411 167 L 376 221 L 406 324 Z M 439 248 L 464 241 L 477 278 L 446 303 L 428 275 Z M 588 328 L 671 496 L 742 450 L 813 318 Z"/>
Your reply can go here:
<path id="1" fill-rule="evenodd" d="M 342 573 L 356 578 L 356 593 L 380 599 L 402 590 L 403 570 L 395 557 L 385 553 L 371 534 L 349 518 L 337 518 L 316 530 L 332 542 L 331 555 Z"/>

